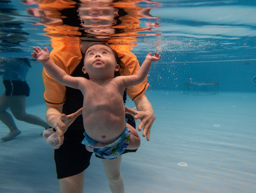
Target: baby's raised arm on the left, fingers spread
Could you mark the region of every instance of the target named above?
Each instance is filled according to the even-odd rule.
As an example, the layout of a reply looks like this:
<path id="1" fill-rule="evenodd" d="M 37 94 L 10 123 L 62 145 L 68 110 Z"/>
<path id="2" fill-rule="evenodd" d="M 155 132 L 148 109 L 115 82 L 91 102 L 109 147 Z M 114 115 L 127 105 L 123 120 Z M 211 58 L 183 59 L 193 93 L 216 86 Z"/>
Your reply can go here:
<path id="1" fill-rule="evenodd" d="M 40 47 L 33 47 L 34 52 L 31 53 L 31 55 L 38 60 L 38 62 L 42 63 L 44 65 L 47 72 L 54 77 L 54 79 L 69 87 L 73 87 L 75 89 L 79 89 L 79 83 L 78 79 L 76 77 L 72 77 L 67 75 L 67 73 L 62 70 L 60 67 L 56 66 L 55 63 L 53 63 L 50 60 L 49 57 L 49 50 L 47 48 L 41 49 Z"/>

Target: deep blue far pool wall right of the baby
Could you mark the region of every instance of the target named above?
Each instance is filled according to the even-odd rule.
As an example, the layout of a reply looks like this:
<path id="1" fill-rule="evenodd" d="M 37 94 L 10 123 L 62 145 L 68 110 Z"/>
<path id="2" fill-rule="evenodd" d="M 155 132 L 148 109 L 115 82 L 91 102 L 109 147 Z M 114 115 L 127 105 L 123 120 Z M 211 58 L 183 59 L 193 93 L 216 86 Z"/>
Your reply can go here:
<path id="1" fill-rule="evenodd" d="M 183 90 L 186 82 L 218 82 L 220 92 L 256 92 L 256 61 L 153 63 L 148 76 L 152 90 Z"/>

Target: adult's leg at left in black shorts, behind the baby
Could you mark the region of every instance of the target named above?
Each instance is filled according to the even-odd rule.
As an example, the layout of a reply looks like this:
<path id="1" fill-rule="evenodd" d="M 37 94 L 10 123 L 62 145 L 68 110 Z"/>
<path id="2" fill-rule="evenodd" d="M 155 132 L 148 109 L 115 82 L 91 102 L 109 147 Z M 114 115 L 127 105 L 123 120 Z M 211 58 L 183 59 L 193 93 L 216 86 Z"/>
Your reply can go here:
<path id="1" fill-rule="evenodd" d="M 84 127 L 79 124 L 84 131 Z M 57 178 L 61 193 L 82 193 L 84 190 L 84 174 L 90 164 L 92 153 L 85 149 L 85 145 L 81 144 L 79 137 L 72 141 L 68 132 L 79 133 L 75 130 L 79 125 L 72 124 L 68 131 L 64 134 L 64 144 L 58 150 L 54 150 L 54 160 L 56 164 Z M 76 127 L 77 126 L 77 127 Z M 72 134 L 72 133 L 71 133 Z M 67 142 L 68 141 L 68 142 Z"/>

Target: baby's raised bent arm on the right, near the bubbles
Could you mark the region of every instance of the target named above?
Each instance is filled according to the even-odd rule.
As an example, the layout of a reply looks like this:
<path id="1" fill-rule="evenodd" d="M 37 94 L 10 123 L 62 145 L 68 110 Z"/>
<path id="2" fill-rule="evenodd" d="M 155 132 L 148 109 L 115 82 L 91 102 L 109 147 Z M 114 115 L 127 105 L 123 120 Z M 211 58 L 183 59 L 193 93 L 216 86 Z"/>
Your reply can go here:
<path id="1" fill-rule="evenodd" d="M 124 77 L 125 87 L 131 87 L 141 83 L 147 77 L 151 63 L 158 61 L 160 58 L 161 56 L 157 52 L 155 52 L 154 56 L 152 56 L 152 53 L 149 53 L 135 75 Z"/>

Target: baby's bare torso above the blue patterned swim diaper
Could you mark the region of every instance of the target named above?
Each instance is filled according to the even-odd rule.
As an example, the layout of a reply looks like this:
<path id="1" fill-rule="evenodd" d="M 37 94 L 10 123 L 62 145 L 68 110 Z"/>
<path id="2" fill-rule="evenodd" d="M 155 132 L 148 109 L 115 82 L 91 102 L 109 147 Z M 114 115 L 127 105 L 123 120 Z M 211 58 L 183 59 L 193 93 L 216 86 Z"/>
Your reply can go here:
<path id="1" fill-rule="evenodd" d="M 112 143 L 125 130 L 124 88 L 115 80 L 98 84 L 90 80 L 84 94 L 83 120 L 89 137 Z"/>

